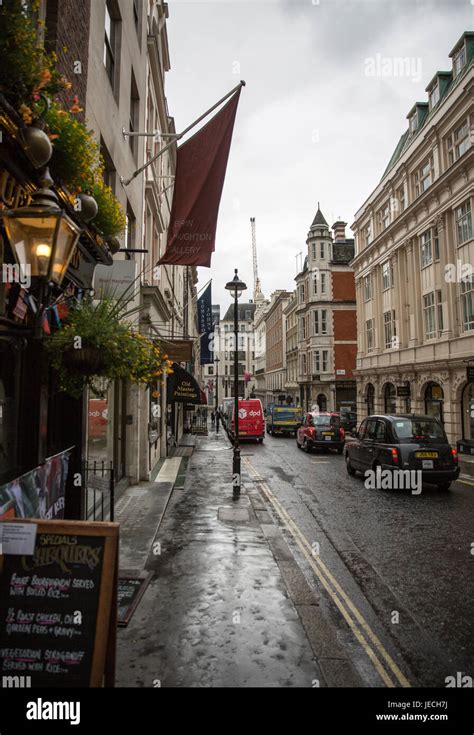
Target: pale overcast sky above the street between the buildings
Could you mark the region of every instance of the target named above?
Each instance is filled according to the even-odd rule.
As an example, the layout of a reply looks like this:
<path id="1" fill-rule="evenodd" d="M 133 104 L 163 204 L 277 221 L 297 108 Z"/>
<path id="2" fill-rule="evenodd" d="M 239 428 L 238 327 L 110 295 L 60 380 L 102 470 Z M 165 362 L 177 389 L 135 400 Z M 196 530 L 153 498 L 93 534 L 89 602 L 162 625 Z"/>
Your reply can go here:
<path id="1" fill-rule="evenodd" d="M 178 131 L 247 82 L 212 267 L 199 269 L 198 288 L 212 277 L 221 314 L 234 268 L 252 298 L 250 217 L 267 298 L 293 290 L 318 201 L 329 225 L 341 217 L 352 236 L 407 113 L 474 30 L 474 0 L 171 0 L 169 15 L 166 91 Z M 387 71 L 396 58 L 410 60 L 408 75 L 370 76 L 377 59 Z"/>

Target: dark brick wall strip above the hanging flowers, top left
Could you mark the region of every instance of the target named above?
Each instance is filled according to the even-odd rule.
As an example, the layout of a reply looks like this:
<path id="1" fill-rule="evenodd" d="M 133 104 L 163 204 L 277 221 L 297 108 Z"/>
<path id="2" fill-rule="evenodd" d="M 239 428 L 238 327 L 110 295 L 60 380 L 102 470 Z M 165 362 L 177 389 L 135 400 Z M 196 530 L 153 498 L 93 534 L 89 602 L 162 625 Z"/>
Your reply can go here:
<path id="1" fill-rule="evenodd" d="M 75 95 L 79 106 L 86 106 L 87 66 L 89 60 L 89 29 L 91 0 L 47 0 L 46 6 L 46 45 L 55 51 L 58 68 L 72 88 L 59 95 L 60 101 L 72 106 Z M 81 74 L 74 73 L 75 62 L 81 62 Z M 84 113 L 77 115 L 84 120 Z"/>

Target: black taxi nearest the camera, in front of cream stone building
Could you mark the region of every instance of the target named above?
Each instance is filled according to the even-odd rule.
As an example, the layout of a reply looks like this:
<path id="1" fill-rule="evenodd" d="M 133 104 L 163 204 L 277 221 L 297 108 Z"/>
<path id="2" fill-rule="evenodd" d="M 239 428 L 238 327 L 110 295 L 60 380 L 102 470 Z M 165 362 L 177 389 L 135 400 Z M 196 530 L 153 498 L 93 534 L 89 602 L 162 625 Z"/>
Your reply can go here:
<path id="1" fill-rule="evenodd" d="M 421 470 L 423 482 L 448 490 L 459 476 L 458 456 L 432 416 L 369 416 L 346 442 L 350 475 L 366 470 Z"/>

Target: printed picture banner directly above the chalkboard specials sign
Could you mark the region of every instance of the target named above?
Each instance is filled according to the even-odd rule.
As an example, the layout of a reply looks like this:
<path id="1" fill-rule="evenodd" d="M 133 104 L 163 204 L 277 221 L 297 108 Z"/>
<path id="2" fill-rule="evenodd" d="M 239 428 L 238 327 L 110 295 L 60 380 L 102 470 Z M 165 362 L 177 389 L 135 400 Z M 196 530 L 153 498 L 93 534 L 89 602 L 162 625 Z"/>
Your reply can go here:
<path id="1" fill-rule="evenodd" d="M 64 518 L 64 496 L 72 448 L 0 485 L 0 521 L 12 518 Z"/>

